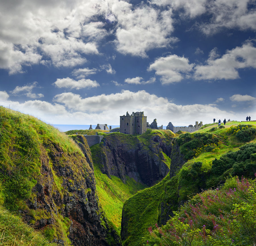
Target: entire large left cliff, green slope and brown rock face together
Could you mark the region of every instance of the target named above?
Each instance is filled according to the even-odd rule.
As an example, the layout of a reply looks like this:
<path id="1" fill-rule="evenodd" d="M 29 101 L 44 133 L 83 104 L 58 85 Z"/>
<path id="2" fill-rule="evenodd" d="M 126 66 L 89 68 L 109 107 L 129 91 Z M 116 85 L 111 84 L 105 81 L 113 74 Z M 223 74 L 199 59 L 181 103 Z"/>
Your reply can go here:
<path id="1" fill-rule="evenodd" d="M 0 108 L 1 203 L 62 245 L 121 245 L 98 206 L 90 148 Z"/>

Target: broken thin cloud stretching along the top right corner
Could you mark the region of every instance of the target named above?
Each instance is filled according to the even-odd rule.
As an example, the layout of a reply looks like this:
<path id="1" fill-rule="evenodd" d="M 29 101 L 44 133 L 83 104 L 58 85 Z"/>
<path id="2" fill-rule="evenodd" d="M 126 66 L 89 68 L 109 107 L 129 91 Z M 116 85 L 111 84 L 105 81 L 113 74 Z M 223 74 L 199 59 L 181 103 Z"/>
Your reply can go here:
<path id="1" fill-rule="evenodd" d="M 256 30 L 256 10 L 251 0 L 149 0 L 158 6 L 170 6 L 177 10 L 181 17 L 195 18 L 202 14 L 211 16 L 198 21 L 199 28 L 211 35 L 223 28 L 239 28 L 240 30 Z M 184 11 L 180 11 L 183 9 Z"/>

